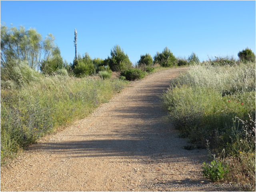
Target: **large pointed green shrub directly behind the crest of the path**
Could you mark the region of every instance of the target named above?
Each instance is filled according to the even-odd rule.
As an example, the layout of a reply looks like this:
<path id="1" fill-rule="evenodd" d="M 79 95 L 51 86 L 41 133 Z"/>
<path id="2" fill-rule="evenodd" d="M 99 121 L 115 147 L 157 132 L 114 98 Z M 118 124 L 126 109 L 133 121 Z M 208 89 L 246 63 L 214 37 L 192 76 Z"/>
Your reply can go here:
<path id="1" fill-rule="evenodd" d="M 164 48 L 162 53 L 157 52 L 154 56 L 154 63 L 159 63 L 162 67 L 172 67 L 175 64 L 175 56 L 170 49 Z"/>

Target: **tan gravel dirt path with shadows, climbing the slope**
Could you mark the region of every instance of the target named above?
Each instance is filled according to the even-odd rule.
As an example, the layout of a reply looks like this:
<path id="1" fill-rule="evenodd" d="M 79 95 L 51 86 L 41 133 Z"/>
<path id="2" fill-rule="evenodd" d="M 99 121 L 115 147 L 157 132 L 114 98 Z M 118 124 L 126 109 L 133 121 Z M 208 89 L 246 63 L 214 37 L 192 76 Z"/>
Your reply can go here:
<path id="1" fill-rule="evenodd" d="M 162 119 L 159 96 L 186 69 L 132 82 L 87 118 L 40 139 L 1 169 L 1 190 L 216 190 L 188 187 L 208 184 L 200 172 L 207 152 L 184 150 L 186 140 Z"/>

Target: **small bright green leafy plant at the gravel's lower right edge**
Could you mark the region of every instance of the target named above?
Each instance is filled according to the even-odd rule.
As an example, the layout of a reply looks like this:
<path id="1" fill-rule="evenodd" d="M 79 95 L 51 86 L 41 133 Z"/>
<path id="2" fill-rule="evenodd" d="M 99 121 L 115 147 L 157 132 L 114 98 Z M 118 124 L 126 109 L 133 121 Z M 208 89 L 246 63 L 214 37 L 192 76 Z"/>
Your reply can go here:
<path id="1" fill-rule="evenodd" d="M 228 165 L 224 166 L 220 161 L 212 160 L 211 164 L 203 162 L 203 176 L 216 182 L 228 174 Z"/>

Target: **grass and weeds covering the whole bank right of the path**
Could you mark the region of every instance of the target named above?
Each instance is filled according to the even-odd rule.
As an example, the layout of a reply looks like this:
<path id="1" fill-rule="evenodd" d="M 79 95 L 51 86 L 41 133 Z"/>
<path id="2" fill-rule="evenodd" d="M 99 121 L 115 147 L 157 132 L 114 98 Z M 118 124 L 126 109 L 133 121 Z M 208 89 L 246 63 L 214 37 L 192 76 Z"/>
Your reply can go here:
<path id="1" fill-rule="evenodd" d="M 238 56 L 189 61 L 190 69 L 172 81 L 162 101 L 170 123 L 189 140 L 184 148 L 208 149 L 206 178 L 255 190 L 255 55 L 246 48 Z"/>

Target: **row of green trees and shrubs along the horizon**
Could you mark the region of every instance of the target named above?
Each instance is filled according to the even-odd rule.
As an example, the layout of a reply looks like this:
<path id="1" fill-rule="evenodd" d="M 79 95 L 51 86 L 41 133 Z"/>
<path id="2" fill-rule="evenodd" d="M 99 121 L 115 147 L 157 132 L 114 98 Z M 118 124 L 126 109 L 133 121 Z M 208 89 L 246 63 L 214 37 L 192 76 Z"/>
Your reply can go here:
<path id="1" fill-rule="evenodd" d="M 239 51 L 238 57 L 242 60 L 255 61 L 255 55 L 249 48 Z M 232 60 L 220 59 L 224 62 Z M 200 60 L 194 52 L 188 58 L 176 58 L 166 47 L 162 52 L 157 52 L 153 58 L 148 53 L 140 55 L 140 60 L 135 67 L 150 67 L 155 64 L 172 67 L 199 62 Z M 68 63 L 66 60 L 63 61 L 60 48 L 54 43 L 52 34 L 48 34 L 43 39 L 35 29 L 26 30 L 24 26 L 20 26 L 18 29 L 16 27 L 8 28 L 5 24 L 1 24 L 1 81 L 14 79 L 17 71 L 22 73 L 38 71 L 44 75 L 64 74 L 84 77 L 99 71 L 124 72 L 132 68 L 134 68 L 132 62 L 119 45 L 115 45 L 110 50 L 110 56 L 106 59 L 92 59 L 86 52 L 82 56 L 78 54 L 77 59 Z"/>

